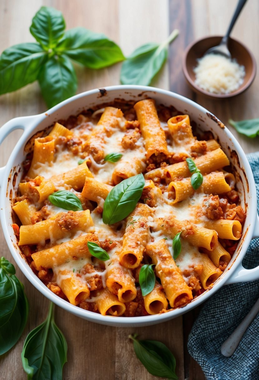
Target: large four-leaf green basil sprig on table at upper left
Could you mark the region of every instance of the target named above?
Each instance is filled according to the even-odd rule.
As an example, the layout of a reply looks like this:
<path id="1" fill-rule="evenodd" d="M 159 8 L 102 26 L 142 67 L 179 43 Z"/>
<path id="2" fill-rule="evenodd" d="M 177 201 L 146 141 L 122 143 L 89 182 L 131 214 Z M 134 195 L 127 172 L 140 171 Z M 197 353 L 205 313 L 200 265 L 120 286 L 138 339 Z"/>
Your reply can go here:
<path id="1" fill-rule="evenodd" d="M 105 35 L 85 28 L 65 31 L 65 27 L 60 11 L 46 6 L 39 9 L 30 27 L 37 42 L 11 46 L 0 56 L 0 95 L 38 80 L 50 108 L 76 93 L 70 59 L 91 69 L 125 59 L 120 47 Z"/>

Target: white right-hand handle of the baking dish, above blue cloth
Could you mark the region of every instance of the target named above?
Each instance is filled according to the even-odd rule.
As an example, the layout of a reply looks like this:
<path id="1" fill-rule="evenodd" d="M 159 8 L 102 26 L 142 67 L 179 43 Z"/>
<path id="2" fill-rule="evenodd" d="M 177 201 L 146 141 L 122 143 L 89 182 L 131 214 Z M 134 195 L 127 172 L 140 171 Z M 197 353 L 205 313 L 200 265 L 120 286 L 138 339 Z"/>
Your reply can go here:
<path id="1" fill-rule="evenodd" d="M 256 224 L 254 227 L 254 233 L 252 239 L 259 237 L 259 216 L 257 214 Z M 225 282 L 225 285 L 234 284 L 237 282 L 250 282 L 259 279 L 259 265 L 253 269 L 245 269 L 242 264 L 240 264 L 234 271 L 232 276 Z"/>

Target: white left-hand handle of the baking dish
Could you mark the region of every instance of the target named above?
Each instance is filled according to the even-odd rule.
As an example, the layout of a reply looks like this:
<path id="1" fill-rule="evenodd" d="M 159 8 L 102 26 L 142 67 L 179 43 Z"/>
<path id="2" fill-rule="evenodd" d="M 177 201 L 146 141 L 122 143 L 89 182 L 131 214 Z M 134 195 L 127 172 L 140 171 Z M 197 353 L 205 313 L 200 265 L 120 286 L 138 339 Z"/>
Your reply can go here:
<path id="1" fill-rule="evenodd" d="M 38 119 L 39 117 L 40 115 L 22 116 L 9 120 L 3 125 L 3 127 L 0 128 L 0 145 L 12 131 L 16 129 L 22 129 L 23 131 L 27 130 L 32 125 L 32 123 L 35 122 L 35 119 Z M 0 187 L 2 187 L 4 171 L 5 166 L 0 168 Z"/>

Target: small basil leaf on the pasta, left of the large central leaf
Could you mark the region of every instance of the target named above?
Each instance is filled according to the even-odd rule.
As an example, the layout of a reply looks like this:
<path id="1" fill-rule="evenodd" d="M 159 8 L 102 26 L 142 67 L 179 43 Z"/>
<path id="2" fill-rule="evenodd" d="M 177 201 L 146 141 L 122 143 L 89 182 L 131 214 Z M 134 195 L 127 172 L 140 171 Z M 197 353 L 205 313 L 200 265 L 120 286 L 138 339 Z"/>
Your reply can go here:
<path id="1" fill-rule="evenodd" d="M 54 206 L 61 207 L 64 210 L 83 210 L 80 199 L 74 193 L 67 190 L 59 190 L 52 193 L 48 196 L 48 199 Z"/>

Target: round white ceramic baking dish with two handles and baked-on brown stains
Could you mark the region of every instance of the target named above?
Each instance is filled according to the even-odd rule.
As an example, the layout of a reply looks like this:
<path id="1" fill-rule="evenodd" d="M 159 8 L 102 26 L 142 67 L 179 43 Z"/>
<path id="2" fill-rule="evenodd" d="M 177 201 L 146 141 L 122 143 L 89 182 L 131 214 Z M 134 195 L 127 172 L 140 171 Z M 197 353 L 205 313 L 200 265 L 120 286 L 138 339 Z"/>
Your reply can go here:
<path id="1" fill-rule="evenodd" d="M 88 109 L 96 105 L 112 102 L 115 98 L 123 100 L 141 100 L 143 98 L 154 98 L 157 104 L 174 106 L 177 110 L 190 115 L 201 130 L 210 130 L 216 139 L 219 140 L 222 149 L 227 154 L 235 168 L 238 178 L 237 187 L 241 194 L 241 204 L 246 209 L 247 217 L 243 226 L 243 235 L 238 244 L 237 250 L 229 263 L 227 269 L 215 282 L 210 290 L 193 299 L 190 304 L 172 310 L 161 315 L 150 315 L 146 317 L 112 317 L 103 316 L 97 313 L 83 310 L 69 304 L 69 302 L 52 293 L 32 272 L 30 266 L 21 255 L 17 246 L 16 236 L 14 235 L 12 224 L 11 201 L 19 180 L 22 176 L 22 161 L 25 159 L 24 147 L 26 142 L 37 132 L 52 125 L 57 120 L 67 119 L 70 115 L 77 115 L 83 109 Z M 49 111 L 36 116 L 17 117 L 10 120 L 0 128 L 0 143 L 13 130 L 22 129 L 23 135 L 17 142 L 8 163 L 0 168 L 0 215 L 8 247 L 14 260 L 25 274 L 27 279 L 48 299 L 67 310 L 68 312 L 89 321 L 110 326 L 147 326 L 176 318 L 188 312 L 194 307 L 204 302 L 212 296 L 223 285 L 235 282 L 247 282 L 259 279 L 259 266 L 254 269 L 245 269 L 242 260 L 251 239 L 259 236 L 259 218 L 256 208 L 256 187 L 253 173 L 248 160 L 238 141 L 224 125 L 205 108 L 193 101 L 177 95 L 175 93 L 144 86 L 111 86 L 105 89 L 95 89 L 76 95 L 63 101 Z M 3 148 L 2 148 L 3 149 Z"/>

